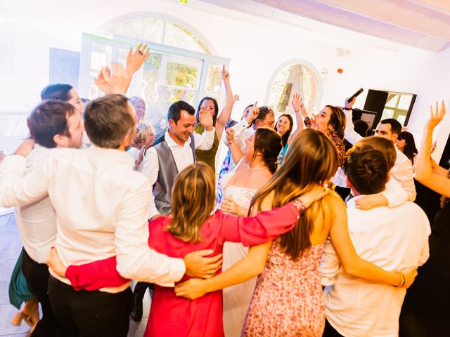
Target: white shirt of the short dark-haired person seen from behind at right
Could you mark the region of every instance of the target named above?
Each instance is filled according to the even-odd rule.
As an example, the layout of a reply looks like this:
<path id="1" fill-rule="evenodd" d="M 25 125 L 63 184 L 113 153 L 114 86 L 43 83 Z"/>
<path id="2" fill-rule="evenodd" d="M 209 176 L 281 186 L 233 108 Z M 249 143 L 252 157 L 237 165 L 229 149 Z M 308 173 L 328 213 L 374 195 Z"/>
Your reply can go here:
<path id="1" fill-rule="evenodd" d="M 347 201 L 348 228 L 356 253 L 384 270 L 423 265 L 428 259 L 430 223 L 412 202 L 394 208 L 356 209 Z M 347 275 L 330 240 L 321 257 L 326 318 L 343 336 L 398 336 L 406 289 Z"/>

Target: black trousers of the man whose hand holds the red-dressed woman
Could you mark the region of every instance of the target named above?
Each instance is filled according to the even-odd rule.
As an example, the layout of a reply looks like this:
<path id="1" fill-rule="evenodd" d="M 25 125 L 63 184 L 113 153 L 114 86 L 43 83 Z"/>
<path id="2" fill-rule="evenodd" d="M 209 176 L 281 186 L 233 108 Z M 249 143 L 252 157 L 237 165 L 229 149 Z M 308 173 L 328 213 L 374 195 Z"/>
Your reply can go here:
<path id="1" fill-rule="evenodd" d="M 49 277 L 49 296 L 66 337 L 126 337 L 133 295 L 75 291 L 72 286 Z"/>

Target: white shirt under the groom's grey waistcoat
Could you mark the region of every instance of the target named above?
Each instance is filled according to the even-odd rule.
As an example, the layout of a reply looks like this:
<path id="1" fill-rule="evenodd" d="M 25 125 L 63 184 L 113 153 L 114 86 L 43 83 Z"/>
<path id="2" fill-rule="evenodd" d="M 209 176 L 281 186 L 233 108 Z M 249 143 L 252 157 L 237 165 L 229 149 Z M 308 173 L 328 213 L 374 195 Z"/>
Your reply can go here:
<path id="1" fill-rule="evenodd" d="M 207 131 L 205 129 L 201 135 L 194 132 L 195 149 L 210 150 L 214 143 L 215 132 L 215 128 L 212 128 L 212 131 Z M 191 149 L 191 138 L 188 138 L 186 143 L 184 143 L 184 146 L 180 146 L 175 143 L 167 130 L 165 133 L 165 140 L 167 146 L 169 146 L 169 149 L 172 151 L 172 156 L 174 156 L 178 172 L 181 172 L 186 166 L 193 164 L 194 157 Z M 158 209 L 156 209 L 155 198 L 152 194 L 153 185 L 155 185 L 156 180 L 158 179 L 158 173 L 160 172 L 160 161 L 158 160 L 158 154 L 156 153 L 155 147 L 152 146 L 147 150 L 146 157 L 143 159 L 143 169 L 141 172 L 149 180 L 150 201 L 148 202 L 148 218 L 153 218 L 153 216 L 159 214 Z"/>

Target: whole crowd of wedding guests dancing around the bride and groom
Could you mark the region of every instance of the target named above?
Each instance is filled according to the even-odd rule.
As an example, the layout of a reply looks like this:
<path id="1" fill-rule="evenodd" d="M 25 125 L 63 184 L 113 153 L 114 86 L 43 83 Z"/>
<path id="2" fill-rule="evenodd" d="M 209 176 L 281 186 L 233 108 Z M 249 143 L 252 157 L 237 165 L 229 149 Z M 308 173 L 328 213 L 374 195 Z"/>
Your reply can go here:
<path id="1" fill-rule="evenodd" d="M 396 119 L 374 136 L 353 122 L 355 97 L 314 113 L 295 93 L 293 116 L 255 102 L 234 121 L 225 67 L 221 112 L 205 97 L 153 115 L 125 96 L 147 57 L 103 67 L 92 101 L 46 86 L 4 157 L 0 205 L 23 242 L 13 324 L 127 336 L 149 289 L 148 337 L 450 336 L 450 180 L 431 159 L 443 102 L 420 150 Z M 438 211 L 413 202 L 433 191 Z"/>

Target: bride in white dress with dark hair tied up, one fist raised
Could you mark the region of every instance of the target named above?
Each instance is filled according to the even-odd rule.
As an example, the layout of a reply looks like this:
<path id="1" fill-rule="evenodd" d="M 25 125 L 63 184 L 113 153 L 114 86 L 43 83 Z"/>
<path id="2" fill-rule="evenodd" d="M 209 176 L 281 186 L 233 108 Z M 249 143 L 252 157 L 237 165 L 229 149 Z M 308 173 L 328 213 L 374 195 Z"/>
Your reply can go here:
<path id="1" fill-rule="evenodd" d="M 234 143 L 233 129 L 226 131 L 231 155 L 236 167 L 222 177 L 223 199 L 221 211 L 247 216 L 250 201 L 274 174 L 280 154 L 281 136 L 271 128 L 258 128 L 245 140 L 245 154 Z M 247 255 L 248 247 L 242 244 L 226 242 L 224 244 L 224 260 L 222 270 L 238 262 Z M 248 305 L 255 289 L 256 277 L 247 282 L 224 289 L 224 332 L 226 337 L 240 336 Z"/>

